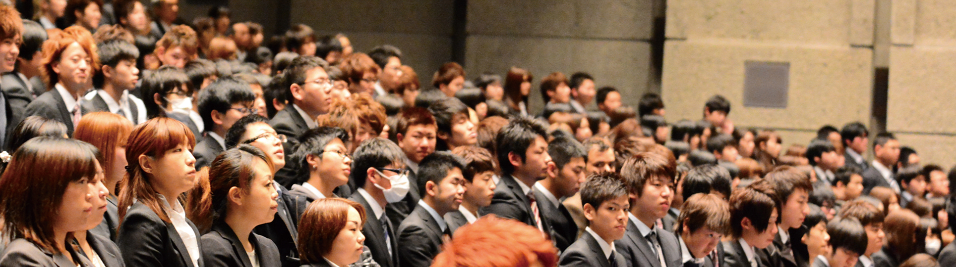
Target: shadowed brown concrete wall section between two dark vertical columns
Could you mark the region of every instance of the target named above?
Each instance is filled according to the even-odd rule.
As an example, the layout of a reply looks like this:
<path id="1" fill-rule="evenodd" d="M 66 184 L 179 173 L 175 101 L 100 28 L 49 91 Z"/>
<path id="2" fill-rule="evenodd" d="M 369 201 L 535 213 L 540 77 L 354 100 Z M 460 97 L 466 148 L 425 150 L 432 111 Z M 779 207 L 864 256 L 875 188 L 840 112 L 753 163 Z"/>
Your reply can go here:
<path id="1" fill-rule="evenodd" d="M 649 90 L 653 2 L 468 1 L 465 70 L 469 77 L 504 75 L 511 66 L 531 71 L 532 113 L 544 106 L 538 85 L 551 72 L 590 72 L 598 87 L 614 86 L 637 105 Z"/>

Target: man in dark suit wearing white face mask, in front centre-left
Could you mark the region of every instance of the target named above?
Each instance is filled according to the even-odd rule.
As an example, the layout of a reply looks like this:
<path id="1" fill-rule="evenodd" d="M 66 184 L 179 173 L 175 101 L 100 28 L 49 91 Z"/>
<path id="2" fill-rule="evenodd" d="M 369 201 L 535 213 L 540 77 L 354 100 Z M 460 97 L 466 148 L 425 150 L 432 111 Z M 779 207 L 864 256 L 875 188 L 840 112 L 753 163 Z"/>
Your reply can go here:
<path id="1" fill-rule="evenodd" d="M 402 149 L 388 139 L 373 138 L 363 142 L 353 155 L 352 169 L 355 172 L 350 179 L 358 190 L 349 199 L 369 211 L 361 229 L 365 245 L 382 267 L 398 266 L 396 228 L 386 216 L 385 208 L 390 203 L 402 201 L 408 194 L 410 184 L 404 171 Z"/>

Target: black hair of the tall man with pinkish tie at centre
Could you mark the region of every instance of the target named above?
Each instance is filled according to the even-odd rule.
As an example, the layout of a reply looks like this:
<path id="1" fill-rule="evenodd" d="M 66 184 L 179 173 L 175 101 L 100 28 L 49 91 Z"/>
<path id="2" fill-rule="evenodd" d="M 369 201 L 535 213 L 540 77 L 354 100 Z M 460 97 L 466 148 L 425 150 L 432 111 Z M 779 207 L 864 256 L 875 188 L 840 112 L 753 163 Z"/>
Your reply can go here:
<path id="1" fill-rule="evenodd" d="M 511 118 L 508 125 L 501 128 L 495 139 L 498 140 L 498 147 L 495 152 L 498 154 L 498 164 L 501 164 L 503 175 L 511 175 L 514 172 L 514 165 L 508 159 L 508 154 L 514 153 L 525 160 L 528 148 L 534 144 L 537 137 L 548 137 L 547 127 L 540 122 L 529 117 L 515 116 Z"/>

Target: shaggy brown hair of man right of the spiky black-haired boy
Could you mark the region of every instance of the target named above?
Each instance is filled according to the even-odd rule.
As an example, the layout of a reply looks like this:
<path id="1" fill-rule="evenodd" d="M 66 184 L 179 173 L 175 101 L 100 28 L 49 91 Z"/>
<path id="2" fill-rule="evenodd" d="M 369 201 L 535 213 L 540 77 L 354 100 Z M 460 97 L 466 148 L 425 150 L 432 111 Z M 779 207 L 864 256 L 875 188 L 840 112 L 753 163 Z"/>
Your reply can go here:
<path id="1" fill-rule="evenodd" d="M 677 170 L 667 163 L 663 155 L 646 152 L 630 156 L 620 168 L 620 176 L 624 178 L 628 193 L 638 196 L 643 195 L 647 182 L 674 182 L 676 173 Z"/>

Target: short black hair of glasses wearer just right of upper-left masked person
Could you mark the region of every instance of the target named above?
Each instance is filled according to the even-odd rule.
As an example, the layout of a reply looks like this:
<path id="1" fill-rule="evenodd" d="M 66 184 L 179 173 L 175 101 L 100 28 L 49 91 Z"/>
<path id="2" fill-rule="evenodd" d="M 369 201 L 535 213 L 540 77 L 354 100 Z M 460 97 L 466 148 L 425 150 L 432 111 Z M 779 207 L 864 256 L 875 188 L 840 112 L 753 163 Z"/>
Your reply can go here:
<path id="1" fill-rule="evenodd" d="M 199 93 L 199 115 L 203 117 L 206 131 L 212 131 L 212 111 L 227 113 L 232 104 L 255 101 L 249 83 L 235 76 L 219 78 Z"/>

